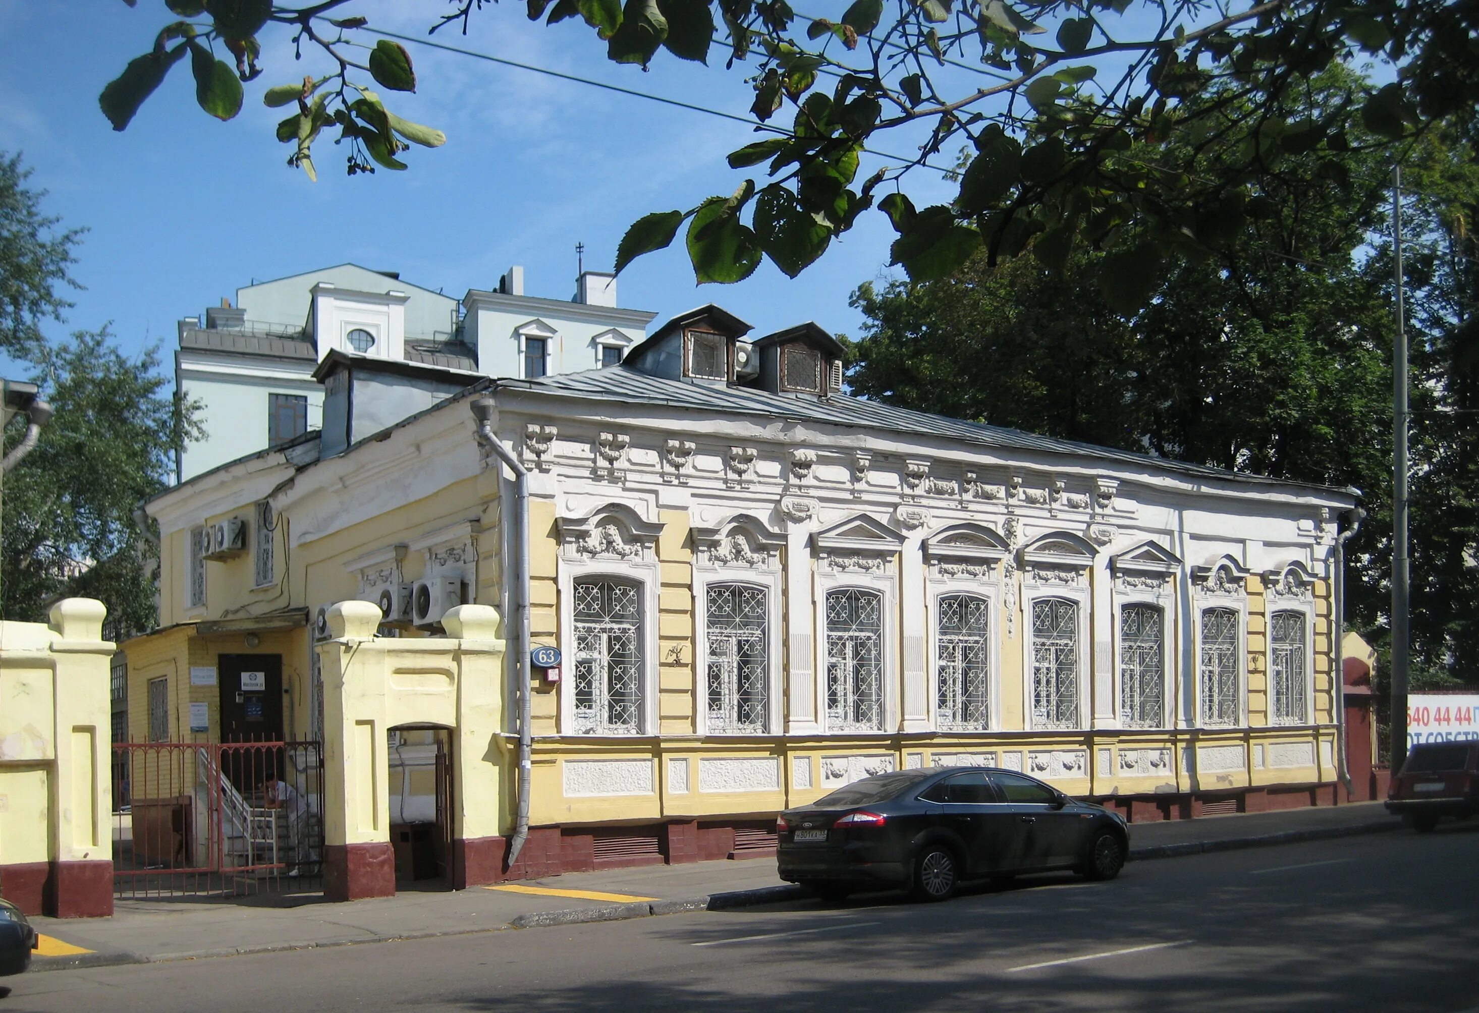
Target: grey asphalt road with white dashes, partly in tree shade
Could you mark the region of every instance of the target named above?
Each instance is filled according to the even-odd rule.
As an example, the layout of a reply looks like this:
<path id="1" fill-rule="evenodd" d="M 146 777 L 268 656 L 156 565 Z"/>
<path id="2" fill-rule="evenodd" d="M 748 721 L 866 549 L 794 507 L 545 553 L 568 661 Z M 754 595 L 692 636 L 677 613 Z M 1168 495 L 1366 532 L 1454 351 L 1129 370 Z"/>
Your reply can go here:
<path id="1" fill-rule="evenodd" d="M 4 979 L 56 1010 L 1473 1010 L 1479 822 L 886 895 Z"/>

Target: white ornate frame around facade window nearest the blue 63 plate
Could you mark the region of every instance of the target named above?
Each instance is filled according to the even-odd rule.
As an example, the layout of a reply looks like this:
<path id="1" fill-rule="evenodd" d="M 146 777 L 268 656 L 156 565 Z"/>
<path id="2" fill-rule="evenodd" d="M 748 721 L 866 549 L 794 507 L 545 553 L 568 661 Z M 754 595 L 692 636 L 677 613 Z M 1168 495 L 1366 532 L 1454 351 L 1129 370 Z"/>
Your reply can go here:
<path id="1" fill-rule="evenodd" d="M 559 645 L 562 679 L 559 689 L 561 734 L 581 739 L 632 739 L 658 732 L 658 590 L 661 568 L 657 537 L 661 524 L 648 522 L 632 506 L 606 503 L 575 518 L 558 518 L 561 555 L 556 568 L 559 586 Z M 639 692 L 642 705 L 637 731 L 618 734 L 578 734 L 575 731 L 575 581 L 606 577 L 637 584 L 642 667 Z M 565 674 L 568 673 L 568 674 Z"/>

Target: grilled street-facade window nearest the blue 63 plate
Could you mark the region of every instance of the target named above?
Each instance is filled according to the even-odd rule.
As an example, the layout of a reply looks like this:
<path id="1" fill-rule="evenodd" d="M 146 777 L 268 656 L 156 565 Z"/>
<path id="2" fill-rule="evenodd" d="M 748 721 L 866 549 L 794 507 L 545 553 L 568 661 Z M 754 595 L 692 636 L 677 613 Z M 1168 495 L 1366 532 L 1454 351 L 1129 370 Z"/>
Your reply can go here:
<path id="1" fill-rule="evenodd" d="M 575 731 L 642 731 L 642 587 L 589 577 L 575 581 Z"/>

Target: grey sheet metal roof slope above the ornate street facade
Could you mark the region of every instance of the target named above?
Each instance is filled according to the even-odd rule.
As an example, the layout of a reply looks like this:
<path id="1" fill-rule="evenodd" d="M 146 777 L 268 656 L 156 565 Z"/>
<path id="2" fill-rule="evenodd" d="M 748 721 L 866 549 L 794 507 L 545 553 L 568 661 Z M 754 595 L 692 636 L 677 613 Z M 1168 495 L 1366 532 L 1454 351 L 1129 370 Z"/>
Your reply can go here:
<path id="1" fill-rule="evenodd" d="M 816 421 L 834 426 L 881 429 L 910 435 L 926 433 L 942 436 L 945 439 L 958 439 L 978 447 L 989 447 L 992 450 L 1097 457 L 1100 460 L 1120 461 L 1133 467 L 1146 467 L 1195 478 L 1235 482 L 1266 482 L 1304 489 L 1324 489 L 1346 495 L 1359 495 L 1356 489 L 1337 489 L 1334 487 L 1319 485 L 1315 482 L 1291 482 L 1263 475 L 1228 472 L 1219 467 L 1207 467 L 1205 464 L 1189 464 L 1186 461 L 1154 457 L 1151 454 L 1136 454 L 1133 451 L 1117 450 L 1114 447 L 1096 447 L 1094 444 L 1081 444 L 1072 439 L 1040 436 L 1037 433 L 1022 432 L 1021 429 L 1004 429 L 1001 426 L 988 426 L 979 421 L 935 416 L 926 411 L 911 411 L 908 408 L 883 404 L 881 401 L 864 401 L 862 398 L 852 398 L 847 395 L 808 398 L 805 395 L 796 396 L 769 393 L 754 387 L 698 384 L 683 380 L 667 380 L 646 376 L 645 373 L 637 373 L 626 365 L 611 365 L 600 370 L 586 370 L 583 373 L 565 373 L 540 380 L 498 380 L 497 386 L 506 389 L 527 389 L 556 396 L 592 398 L 596 401 L 667 405 L 694 411 L 732 411 L 737 414 L 765 416 L 791 421 Z"/>

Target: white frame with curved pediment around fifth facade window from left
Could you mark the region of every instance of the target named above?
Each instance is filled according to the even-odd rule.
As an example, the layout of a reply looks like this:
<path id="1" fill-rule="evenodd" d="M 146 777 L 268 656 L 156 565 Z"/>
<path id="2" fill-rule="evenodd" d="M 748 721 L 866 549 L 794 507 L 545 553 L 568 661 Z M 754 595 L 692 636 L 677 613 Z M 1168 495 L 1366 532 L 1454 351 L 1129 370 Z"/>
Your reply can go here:
<path id="1" fill-rule="evenodd" d="M 1041 535 L 1022 550 L 1022 723 L 1026 731 L 1075 732 L 1089 728 L 1093 694 L 1093 590 L 1089 574 L 1093 562 L 1093 546 L 1063 531 Z M 1040 725 L 1032 713 L 1032 606 L 1050 597 L 1078 606 L 1078 725 L 1074 728 Z"/>

